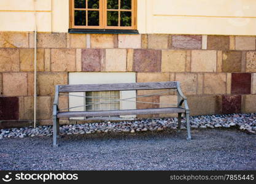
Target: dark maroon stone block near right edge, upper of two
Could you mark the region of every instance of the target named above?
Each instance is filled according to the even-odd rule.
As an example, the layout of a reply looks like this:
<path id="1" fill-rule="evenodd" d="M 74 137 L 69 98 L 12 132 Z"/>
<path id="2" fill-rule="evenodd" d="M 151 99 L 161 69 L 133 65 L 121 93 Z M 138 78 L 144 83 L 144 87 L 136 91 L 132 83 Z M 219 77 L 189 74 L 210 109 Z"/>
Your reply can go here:
<path id="1" fill-rule="evenodd" d="M 250 94 L 251 74 L 235 73 L 231 77 L 231 94 Z"/>

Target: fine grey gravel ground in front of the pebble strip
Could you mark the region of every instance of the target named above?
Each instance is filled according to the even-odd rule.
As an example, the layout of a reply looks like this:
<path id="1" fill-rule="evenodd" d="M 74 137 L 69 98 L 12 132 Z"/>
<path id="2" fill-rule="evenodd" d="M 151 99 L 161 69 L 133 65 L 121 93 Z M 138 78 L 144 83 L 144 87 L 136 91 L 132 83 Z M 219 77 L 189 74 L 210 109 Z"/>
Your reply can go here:
<path id="1" fill-rule="evenodd" d="M 256 136 L 237 128 L 0 140 L 0 170 L 256 170 Z"/>

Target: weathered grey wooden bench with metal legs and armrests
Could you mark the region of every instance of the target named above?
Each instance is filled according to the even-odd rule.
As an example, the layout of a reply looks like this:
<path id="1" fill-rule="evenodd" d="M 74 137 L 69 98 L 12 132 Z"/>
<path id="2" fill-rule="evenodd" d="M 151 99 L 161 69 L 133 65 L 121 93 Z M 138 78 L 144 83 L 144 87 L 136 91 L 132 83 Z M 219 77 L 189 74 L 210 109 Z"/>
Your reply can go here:
<path id="1" fill-rule="evenodd" d="M 58 98 L 60 93 L 86 92 L 86 91 L 128 91 L 128 90 L 162 90 L 172 89 L 177 91 L 176 107 L 155 109 L 132 109 L 132 110 L 102 110 L 102 111 L 76 111 L 59 112 Z M 184 107 L 182 104 L 184 103 Z M 178 132 L 180 132 L 181 117 L 184 113 L 187 123 L 187 140 L 191 140 L 189 109 L 187 98 L 180 90 L 179 82 L 152 82 L 152 83 L 111 83 L 111 84 L 88 84 L 88 85 L 56 85 L 55 100 L 53 102 L 53 146 L 58 146 L 57 137 L 60 131 L 59 118 L 74 117 L 109 117 L 119 115 L 142 115 L 142 114 L 178 113 Z"/>

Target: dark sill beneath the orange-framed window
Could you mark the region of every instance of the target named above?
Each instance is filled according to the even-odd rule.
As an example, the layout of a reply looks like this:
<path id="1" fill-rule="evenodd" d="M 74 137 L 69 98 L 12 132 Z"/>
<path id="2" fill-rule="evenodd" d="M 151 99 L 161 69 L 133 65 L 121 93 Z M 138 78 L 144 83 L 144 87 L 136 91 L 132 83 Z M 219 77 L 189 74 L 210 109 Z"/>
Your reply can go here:
<path id="1" fill-rule="evenodd" d="M 68 29 L 68 33 L 77 34 L 139 34 L 138 30 L 131 29 Z"/>

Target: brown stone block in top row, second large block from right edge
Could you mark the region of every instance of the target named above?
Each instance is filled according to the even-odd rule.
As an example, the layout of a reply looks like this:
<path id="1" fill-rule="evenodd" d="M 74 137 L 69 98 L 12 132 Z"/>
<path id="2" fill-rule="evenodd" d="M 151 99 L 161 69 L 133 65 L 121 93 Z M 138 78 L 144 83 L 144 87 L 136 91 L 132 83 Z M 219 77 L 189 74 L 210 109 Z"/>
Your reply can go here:
<path id="1" fill-rule="evenodd" d="M 229 36 L 208 35 L 207 49 L 228 50 L 230 48 Z"/>

